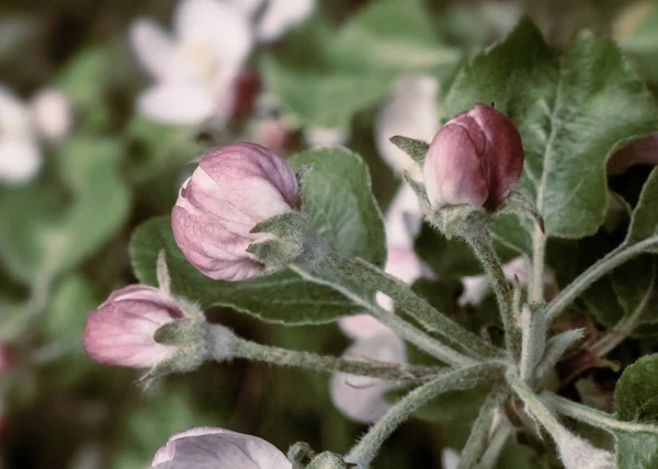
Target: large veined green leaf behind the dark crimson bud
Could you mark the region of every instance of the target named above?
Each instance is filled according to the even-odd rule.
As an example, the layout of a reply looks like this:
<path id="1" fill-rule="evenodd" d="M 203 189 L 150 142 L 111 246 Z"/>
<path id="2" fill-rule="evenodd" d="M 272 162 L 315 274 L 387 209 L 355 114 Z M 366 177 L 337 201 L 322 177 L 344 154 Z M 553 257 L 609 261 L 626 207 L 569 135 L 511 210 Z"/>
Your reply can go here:
<path id="1" fill-rule="evenodd" d="M 463 67 L 444 107 L 453 115 L 475 102 L 495 102 L 517 124 L 525 148 L 519 188 L 553 237 L 598 230 L 608 207 L 608 157 L 658 129 L 651 95 L 612 41 L 582 33 L 558 55 L 529 21 Z"/>

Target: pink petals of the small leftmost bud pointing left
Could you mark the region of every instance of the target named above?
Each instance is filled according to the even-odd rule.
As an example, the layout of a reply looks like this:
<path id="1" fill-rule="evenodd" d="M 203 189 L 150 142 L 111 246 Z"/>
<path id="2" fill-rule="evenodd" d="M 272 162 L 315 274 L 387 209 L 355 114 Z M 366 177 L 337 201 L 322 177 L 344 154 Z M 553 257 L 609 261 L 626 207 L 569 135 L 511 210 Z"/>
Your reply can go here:
<path id="1" fill-rule="evenodd" d="M 178 351 L 157 343 L 154 334 L 182 316 L 173 297 L 154 287 L 129 285 L 89 313 L 84 350 L 103 365 L 150 368 Z"/>

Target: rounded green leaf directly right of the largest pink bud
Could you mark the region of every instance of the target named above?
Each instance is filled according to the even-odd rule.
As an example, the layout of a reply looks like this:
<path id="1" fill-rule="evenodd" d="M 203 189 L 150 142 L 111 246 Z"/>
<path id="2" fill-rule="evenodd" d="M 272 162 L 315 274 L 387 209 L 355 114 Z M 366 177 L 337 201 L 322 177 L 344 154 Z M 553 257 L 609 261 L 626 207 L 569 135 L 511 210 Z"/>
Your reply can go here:
<path id="1" fill-rule="evenodd" d="M 297 153 L 288 162 L 293 169 L 313 165 L 302 199 L 316 231 L 339 254 L 384 265 L 384 222 L 361 157 L 345 148 L 319 148 Z"/>

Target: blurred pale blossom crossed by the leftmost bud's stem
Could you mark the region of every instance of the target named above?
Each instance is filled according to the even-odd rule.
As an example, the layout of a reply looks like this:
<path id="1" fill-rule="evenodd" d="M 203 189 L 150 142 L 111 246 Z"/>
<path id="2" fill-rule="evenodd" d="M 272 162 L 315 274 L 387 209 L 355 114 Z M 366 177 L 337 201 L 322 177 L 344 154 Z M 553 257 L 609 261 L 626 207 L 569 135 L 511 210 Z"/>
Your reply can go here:
<path id="1" fill-rule="evenodd" d="M 398 364 L 407 359 L 407 350 L 405 343 L 388 331 L 354 342 L 343 356 L 350 359 Z M 333 405 L 343 415 L 356 422 L 370 423 L 382 417 L 390 408 L 384 394 L 394 386 L 379 378 L 334 373 L 329 391 Z"/>

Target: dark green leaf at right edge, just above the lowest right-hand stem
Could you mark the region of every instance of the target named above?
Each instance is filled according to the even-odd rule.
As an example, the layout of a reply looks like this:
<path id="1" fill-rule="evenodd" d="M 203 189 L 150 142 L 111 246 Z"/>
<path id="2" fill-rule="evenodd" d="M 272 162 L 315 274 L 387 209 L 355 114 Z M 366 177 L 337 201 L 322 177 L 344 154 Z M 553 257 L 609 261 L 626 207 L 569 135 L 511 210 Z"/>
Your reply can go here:
<path id="1" fill-rule="evenodd" d="M 643 356 L 624 369 L 614 399 L 617 419 L 658 423 L 658 354 Z"/>

